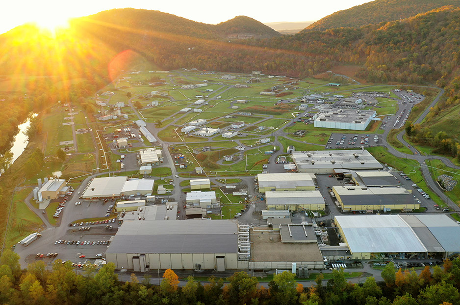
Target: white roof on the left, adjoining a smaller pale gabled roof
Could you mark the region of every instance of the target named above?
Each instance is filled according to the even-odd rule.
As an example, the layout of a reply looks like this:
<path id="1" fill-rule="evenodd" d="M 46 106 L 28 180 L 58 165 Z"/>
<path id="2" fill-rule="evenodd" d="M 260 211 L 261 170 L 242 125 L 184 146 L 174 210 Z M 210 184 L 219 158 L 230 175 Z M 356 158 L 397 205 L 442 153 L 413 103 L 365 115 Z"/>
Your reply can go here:
<path id="1" fill-rule="evenodd" d="M 81 197 L 99 198 L 120 196 L 127 179 L 128 177 L 124 176 L 94 178 Z"/>

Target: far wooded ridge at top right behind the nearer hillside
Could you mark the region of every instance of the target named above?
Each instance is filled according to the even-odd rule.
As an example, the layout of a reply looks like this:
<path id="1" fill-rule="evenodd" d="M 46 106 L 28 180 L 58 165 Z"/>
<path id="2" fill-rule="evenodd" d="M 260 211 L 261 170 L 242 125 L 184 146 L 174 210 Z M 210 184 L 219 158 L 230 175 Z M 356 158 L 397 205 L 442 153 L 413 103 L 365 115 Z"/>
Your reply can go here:
<path id="1" fill-rule="evenodd" d="M 375 0 L 335 12 L 309 25 L 305 30 L 359 28 L 369 24 L 405 19 L 445 5 L 458 7 L 460 0 Z"/>

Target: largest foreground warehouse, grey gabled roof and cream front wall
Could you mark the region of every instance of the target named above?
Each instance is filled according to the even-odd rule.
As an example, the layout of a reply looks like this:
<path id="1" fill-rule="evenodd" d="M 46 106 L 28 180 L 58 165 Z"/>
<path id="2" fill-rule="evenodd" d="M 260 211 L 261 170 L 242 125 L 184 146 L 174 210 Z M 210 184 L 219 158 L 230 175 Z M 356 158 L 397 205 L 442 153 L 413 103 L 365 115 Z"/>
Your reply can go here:
<path id="1" fill-rule="evenodd" d="M 117 269 L 237 268 L 238 226 L 232 220 L 126 221 L 105 252 Z"/>

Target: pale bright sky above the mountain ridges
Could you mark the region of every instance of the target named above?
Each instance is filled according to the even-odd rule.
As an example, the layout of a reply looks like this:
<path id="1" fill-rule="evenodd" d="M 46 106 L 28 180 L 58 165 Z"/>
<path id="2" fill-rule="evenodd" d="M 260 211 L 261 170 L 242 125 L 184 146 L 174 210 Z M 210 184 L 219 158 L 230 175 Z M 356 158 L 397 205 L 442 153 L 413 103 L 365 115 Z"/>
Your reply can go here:
<path id="1" fill-rule="evenodd" d="M 52 26 L 112 8 L 144 8 L 216 24 L 246 15 L 260 22 L 312 21 L 369 0 L 9 0 L 0 9 L 0 33 L 30 21 Z"/>

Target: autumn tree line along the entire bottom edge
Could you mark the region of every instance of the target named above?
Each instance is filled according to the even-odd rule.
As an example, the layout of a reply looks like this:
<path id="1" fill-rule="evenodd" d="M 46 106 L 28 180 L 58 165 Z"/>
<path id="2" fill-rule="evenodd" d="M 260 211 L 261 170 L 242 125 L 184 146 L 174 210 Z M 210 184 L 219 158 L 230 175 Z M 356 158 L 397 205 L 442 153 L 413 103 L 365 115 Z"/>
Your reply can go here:
<path id="1" fill-rule="evenodd" d="M 134 274 L 121 282 L 113 264 L 99 270 L 88 265 L 76 273 L 70 261 L 56 259 L 49 270 L 36 261 L 22 270 L 19 256 L 5 250 L 0 256 L 0 302 L 2 304 L 219 304 L 219 305 L 457 305 L 460 304 L 460 259 L 445 260 L 443 268 L 429 266 L 420 275 L 411 269 L 395 270 L 392 263 L 382 271 L 382 282 L 367 277 L 362 284 L 347 281 L 343 270 L 334 270 L 326 284 L 323 276 L 304 287 L 295 275 L 274 275 L 268 288 L 244 271 L 224 278 L 209 277 L 201 283 L 179 277 L 168 269 L 160 285 L 151 277 Z"/>

